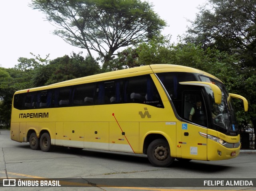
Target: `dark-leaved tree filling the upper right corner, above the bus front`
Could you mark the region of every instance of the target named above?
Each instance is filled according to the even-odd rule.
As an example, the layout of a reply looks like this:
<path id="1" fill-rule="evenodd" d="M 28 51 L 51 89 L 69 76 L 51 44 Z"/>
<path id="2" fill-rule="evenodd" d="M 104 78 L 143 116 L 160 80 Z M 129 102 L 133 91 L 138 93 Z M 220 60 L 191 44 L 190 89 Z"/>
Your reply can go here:
<path id="1" fill-rule="evenodd" d="M 186 41 L 236 54 L 242 67 L 256 63 L 256 1 L 209 0 L 202 6 Z"/>

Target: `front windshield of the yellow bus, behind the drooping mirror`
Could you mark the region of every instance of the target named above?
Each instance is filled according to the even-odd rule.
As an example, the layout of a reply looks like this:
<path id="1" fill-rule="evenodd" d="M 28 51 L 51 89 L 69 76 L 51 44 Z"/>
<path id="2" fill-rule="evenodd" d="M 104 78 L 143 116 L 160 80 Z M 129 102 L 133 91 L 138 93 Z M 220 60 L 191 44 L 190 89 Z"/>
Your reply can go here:
<path id="1" fill-rule="evenodd" d="M 209 82 L 217 85 L 222 91 L 222 101 L 220 104 L 216 104 L 214 102 L 212 91 L 206 88 L 206 92 L 210 95 L 213 128 L 227 135 L 236 136 L 238 134 L 236 116 L 230 98 L 228 98 L 228 91 L 226 90 L 226 87 L 222 83 L 214 79 L 210 79 L 209 77 L 200 76 L 200 79 L 203 82 Z"/>

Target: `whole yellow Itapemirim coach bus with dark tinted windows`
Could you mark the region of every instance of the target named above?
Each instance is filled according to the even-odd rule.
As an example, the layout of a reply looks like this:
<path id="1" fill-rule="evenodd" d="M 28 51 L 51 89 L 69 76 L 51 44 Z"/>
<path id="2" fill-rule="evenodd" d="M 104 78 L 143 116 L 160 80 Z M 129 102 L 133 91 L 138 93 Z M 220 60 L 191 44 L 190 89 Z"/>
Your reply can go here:
<path id="1" fill-rule="evenodd" d="M 10 136 L 44 152 L 64 146 L 146 154 L 158 167 L 231 159 L 240 153 L 231 98 L 248 110 L 246 98 L 198 69 L 123 69 L 17 91 Z"/>

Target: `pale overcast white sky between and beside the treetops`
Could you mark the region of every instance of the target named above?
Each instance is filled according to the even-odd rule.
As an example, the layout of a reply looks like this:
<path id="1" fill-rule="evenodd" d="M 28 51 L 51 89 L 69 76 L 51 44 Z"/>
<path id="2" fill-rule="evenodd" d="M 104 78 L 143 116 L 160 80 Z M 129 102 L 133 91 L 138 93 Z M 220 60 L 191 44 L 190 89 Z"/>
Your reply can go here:
<path id="1" fill-rule="evenodd" d="M 161 19 L 167 22 L 163 35 L 172 35 L 172 42 L 177 36 L 186 32 L 190 26 L 187 20 L 194 20 L 198 8 L 206 0 L 148 0 Z M 0 1 L 0 67 L 12 68 L 18 64 L 19 57 L 32 58 L 40 55 L 53 60 L 57 57 L 70 55 L 73 51 L 83 52 L 85 49 L 74 47 L 53 35 L 55 27 L 46 21 L 38 10 L 28 7 L 30 0 Z"/>

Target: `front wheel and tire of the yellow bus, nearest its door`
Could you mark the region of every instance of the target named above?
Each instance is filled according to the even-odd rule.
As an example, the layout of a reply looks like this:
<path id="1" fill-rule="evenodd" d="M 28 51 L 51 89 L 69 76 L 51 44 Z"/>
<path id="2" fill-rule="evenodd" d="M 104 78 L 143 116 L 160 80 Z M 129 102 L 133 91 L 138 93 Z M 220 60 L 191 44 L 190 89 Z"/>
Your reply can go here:
<path id="1" fill-rule="evenodd" d="M 148 160 L 156 167 L 168 167 L 175 158 L 171 157 L 170 147 L 166 140 L 152 141 L 147 150 Z"/>

